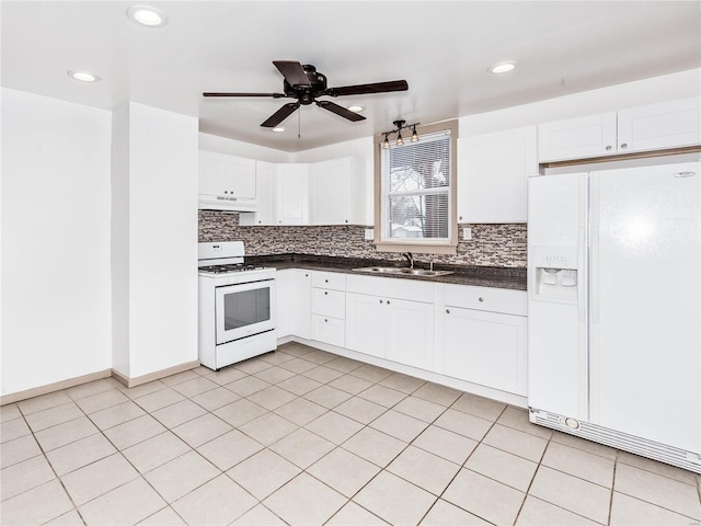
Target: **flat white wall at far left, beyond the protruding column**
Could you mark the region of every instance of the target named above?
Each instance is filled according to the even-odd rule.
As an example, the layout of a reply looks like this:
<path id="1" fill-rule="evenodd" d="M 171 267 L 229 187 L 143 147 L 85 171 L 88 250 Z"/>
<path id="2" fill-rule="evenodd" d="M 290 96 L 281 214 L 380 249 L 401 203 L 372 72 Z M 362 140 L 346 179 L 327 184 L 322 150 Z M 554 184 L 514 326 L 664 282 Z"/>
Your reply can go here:
<path id="1" fill-rule="evenodd" d="M 112 367 L 111 113 L 0 96 L 7 395 Z"/>

